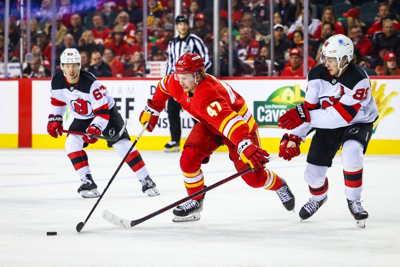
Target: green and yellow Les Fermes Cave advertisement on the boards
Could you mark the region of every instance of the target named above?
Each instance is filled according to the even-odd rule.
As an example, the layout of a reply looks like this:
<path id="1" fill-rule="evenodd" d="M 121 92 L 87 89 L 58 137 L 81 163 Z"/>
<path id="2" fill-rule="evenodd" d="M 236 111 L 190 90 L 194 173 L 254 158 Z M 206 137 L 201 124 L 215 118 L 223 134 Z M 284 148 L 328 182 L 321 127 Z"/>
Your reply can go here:
<path id="1" fill-rule="evenodd" d="M 284 86 L 272 92 L 266 101 L 254 101 L 254 118 L 258 127 L 277 127 L 279 117 L 287 109 L 304 102 L 300 85 Z"/>

